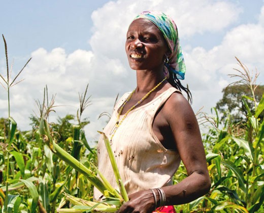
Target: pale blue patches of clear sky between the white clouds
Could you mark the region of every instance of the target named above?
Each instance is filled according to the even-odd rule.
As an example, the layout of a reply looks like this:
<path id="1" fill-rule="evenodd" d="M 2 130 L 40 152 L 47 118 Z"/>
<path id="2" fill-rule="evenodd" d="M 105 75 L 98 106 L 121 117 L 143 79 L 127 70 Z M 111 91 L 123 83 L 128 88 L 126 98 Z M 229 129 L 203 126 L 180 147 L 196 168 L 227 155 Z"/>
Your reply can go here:
<path id="1" fill-rule="evenodd" d="M 10 41 L 10 56 L 30 55 L 39 47 L 47 50 L 63 47 L 69 53 L 78 48 L 90 49 L 88 38 L 92 34 L 91 13 L 107 2 L 109 1 L 1 1 L 1 33 Z M 226 2 L 234 2 L 243 8 L 243 15 L 233 26 L 255 23 L 263 5 L 263 0 Z M 195 5 L 195 0 L 193 3 Z M 199 44 L 209 49 L 221 41 L 224 32 L 208 31 L 196 34 L 195 39 L 181 40 L 183 44 Z"/>

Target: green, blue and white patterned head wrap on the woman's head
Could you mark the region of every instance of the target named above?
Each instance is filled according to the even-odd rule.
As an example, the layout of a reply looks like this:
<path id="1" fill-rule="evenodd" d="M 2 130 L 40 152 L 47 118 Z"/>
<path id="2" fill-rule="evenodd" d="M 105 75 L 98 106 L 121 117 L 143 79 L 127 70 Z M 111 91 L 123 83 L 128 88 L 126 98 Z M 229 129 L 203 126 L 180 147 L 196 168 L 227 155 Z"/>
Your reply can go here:
<path id="1" fill-rule="evenodd" d="M 151 21 L 160 29 L 171 50 L 171 54 L 168 55 L 169 62 L 164 63 L 164 68 L 174 73 L 178 79 L 183 80 L 186 68 L 179 44 L 177 26 L 174 21 L 166 14 L 158 11 L 144 11 L 134 20 L 139 18 Z"/>

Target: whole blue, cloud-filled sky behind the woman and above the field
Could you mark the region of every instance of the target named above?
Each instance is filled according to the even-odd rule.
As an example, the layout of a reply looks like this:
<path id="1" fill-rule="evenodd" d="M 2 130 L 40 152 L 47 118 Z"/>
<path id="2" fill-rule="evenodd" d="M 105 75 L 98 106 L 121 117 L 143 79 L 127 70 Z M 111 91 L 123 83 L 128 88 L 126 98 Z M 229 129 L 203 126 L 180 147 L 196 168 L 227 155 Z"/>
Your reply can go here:
<path id="1" fill-rule="evenodd" d="M 129 23 L 140 12 L 158 10 L 170 15 L 178 26 L 186 63 L 182 84 L 192 92 L 194 112 L 211 108 L 222 89 L 234 82 L 238 57 L 264 82 L 263 0 L 119 0 L 119 1 L 4 1 L 0 0 L 0 33 L 8 45 L 11 79 L 32 57 L 11 87 L 11 117 L 21 130 L 30 129 L 29 116 L 37 112 L 47 85 L 56 94 L 55 113 L 76 115 L 78 93 L 88 86 L 91 105 L 82 117 L 87 139 L 96 141 L 117 94 L 136 87 L 135 70 L 129 68 L 124 43 Z M 0 73 L 6 78 L 4 42 L 0 40 Z M 0 79 L 4 84 L 4 81 Z M 7 91 L 0 86 L 0 117 L 8 117 Z"/>

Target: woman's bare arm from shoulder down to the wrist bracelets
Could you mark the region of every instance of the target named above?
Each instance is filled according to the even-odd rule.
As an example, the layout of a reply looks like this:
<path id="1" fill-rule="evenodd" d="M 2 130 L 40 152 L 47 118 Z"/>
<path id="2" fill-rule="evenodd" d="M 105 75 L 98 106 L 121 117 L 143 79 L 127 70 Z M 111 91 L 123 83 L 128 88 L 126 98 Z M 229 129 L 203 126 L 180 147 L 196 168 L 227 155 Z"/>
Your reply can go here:
<path id="1" fill-rule="evenodd" d="M 163 110 L 188 176 L 179 184 L 162 189 L 168 205 L 188 203 L 211 187 L 199 125 L 190 104 L 180 94 L 174 93 Z"/>

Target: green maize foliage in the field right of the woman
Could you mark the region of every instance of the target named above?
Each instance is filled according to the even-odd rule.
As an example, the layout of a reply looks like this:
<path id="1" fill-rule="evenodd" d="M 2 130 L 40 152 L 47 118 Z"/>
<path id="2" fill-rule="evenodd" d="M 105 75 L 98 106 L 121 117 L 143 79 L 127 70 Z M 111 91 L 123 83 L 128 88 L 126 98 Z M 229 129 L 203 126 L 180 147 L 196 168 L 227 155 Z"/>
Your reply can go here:
<path id="1" fill-rule="evenodd" d="M 189 204 L 177 206 L 178 211 L 263 211 L 264 121 L 261 115 L 264 110 L 264 94 L 262 92 L 259 94 L 260 97 L 257 97 L 254 92 L 258 87 L 253 84 L 256 78 L 252 80 L 247 68 L 240 61 L 239 64 L 244 72 L 236 75 L 242 79 L 238 81 L 238 85 L 235 84 L 238 86 L 236 88 L 249 88 L 251 92 L 247 96 L 240 96 L 245 106 L 243 110 L 238 109 L 239 113 L 244 113 L 243 122 L 242 118 L 238 122 L 229 114 L 221 123 L 215 109 L 213 127 L 204 135 L 208 170 L 212 181 L 211 191 Z M 244 92 L 240 91 L 240 95 L 242 94 Z M 182 173 L 178 172 L 175 178 L 177 181 L 186 175 L 182 167 L 179 171 Z"/>

